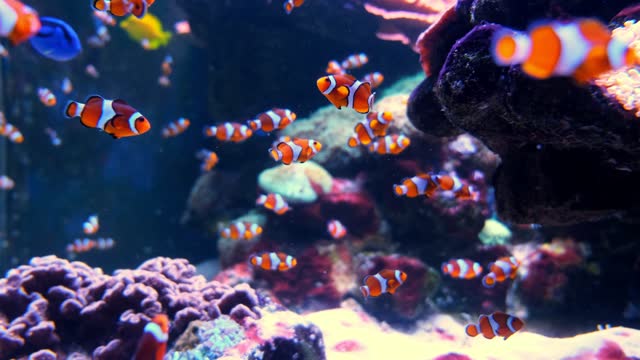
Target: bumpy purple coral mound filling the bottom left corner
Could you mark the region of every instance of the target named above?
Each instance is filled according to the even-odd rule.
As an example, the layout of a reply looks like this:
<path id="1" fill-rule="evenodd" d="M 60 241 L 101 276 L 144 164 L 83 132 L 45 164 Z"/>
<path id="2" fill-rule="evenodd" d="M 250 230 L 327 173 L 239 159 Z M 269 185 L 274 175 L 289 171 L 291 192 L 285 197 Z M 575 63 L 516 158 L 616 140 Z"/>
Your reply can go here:
<path id="1" fill-rule="evenodd" d="M 155 258 L 105 275 L 81 262 L 34 258 L 0 279 L 0 354 L 39 359 L 74 344 L 94 359 L 127 359 L 158 313 L 172 319 L 175 336 L 196 319 L 258 318 L 258 306 L 250 287 L 208 282 L 185 259 Z"/>

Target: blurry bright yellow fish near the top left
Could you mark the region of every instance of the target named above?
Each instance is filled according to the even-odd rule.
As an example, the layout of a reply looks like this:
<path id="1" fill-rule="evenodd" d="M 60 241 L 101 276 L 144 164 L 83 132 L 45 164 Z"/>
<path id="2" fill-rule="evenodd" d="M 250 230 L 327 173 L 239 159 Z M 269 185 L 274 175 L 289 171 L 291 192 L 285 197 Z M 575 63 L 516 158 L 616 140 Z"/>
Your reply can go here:
<path id="1" fill-rule="evenodd" d="M 164 31 L 160 19 L 149 13 L 142 19 L 131 15 L 120 22 L 120 27 L 129 34 L 131 39 L 147 50 L 167 46 L 171 39 L 171 33 Z"/>

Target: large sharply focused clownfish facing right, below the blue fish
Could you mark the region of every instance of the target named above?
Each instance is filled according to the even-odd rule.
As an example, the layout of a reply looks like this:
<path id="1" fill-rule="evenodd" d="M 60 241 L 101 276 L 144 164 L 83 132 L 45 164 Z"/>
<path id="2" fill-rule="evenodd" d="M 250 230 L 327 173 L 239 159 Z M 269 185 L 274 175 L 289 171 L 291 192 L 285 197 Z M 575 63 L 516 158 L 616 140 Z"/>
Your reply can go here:
<path id="1" fill-rule="evenodd" d="M 142 135 L 151 129 L 147 118 L 120 99 L 93 95 L 86 104 L 69 101 L 64 113 L 68 118 L 80 117 L 82 125 L 103 130 L 114 139 Z"/>

